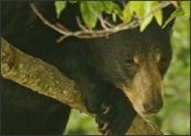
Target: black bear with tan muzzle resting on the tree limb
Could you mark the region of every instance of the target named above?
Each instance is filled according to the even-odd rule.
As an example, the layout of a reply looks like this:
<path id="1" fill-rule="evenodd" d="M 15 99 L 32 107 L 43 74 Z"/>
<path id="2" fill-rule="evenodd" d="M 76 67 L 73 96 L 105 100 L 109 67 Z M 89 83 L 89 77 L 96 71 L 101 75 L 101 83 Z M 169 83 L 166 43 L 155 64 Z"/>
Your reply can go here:
<path id="1" fill-rule="evenodd" d="M 1 4 L 2 37 L 74 79 L 103 134 L 124 134 L 136 113 L 148 115 L 162 109 L 162 79 L 171 60 L 170 25 L 162 29 L 153 22 L 143 33 L 134 28 L 109 38 L 69 37 L 56 42 L 60 34 L 38 18 L 29 2 Z M 53 1 L 34 4 L 49 22 L 58 22 Z M 59 22 L 79 29 L 76 13 L 79 5 L 68 3 Z M 3 77 L 1 83 L 2 134 L 63 133 L 69 107 Z"/>

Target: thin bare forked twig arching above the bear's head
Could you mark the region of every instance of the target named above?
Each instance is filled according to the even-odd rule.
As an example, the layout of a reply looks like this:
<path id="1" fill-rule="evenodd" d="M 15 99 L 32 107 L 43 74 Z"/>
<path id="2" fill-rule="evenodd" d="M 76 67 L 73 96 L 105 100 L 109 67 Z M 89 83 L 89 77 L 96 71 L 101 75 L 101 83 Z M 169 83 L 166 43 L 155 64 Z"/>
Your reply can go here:
<path id="1" fill-rule="evenodd" d="M 46 24 L 48 25 L 49 27 L 51 27 L 52 29 L 59 32 L 60 34 L 62 34 L 62 36 L 57 40 L 58 42 L 62 41 L 63 39 L 65 39 L 67 37 L 70 37 L 70 36 L 74 36 L 74 37 L 77 37 L 77 38 L 95 38 L 95 37 L 106 37 L 110 34 L 114 34 L 114 33 L 117 33 L 117 32 L 120 32 L 120 30 L 124 30 L 124 29 L 131 29 L 131 28 L 135 28 L 140 25 L 141 22 L 143 22 L 146 17 L 148 17 L 151 14 L 155 13 L 156 11 L 160 10 L 160 9 L 164 9 L 166 7 L 168 7 L 169 4 L 171 4 L 170 1 L 163 1 L 160 2 L 158 5 L 156 5 L 148 14 L 144 15 L 143 17 L 140 17 L 139 20 L 134 20 L 132 22 L 130 22 L 129 24 L 127 25 L 122 25 L 122 24 L 119 24 L 115 27 L 107 27 L 106 25 L 110 25 L 109 22 L 107 22 L 106 20 L 104 18 L 100 18 L 99 17 L 99 21 L 100 23 L 104 23 L 102 24 L 102 26 L 104 27 L 104 29 L 87 29 L 85 26 L 82 25 L 81 21 L 80 21 L 80 17 L 76 16 L 76 22 L 77 22 L 77 25 L 81 27 L 81 30 L 76 30 L 76 32 L 65 32 L 59 27 L 57 27 L 56 25 L 49 23 L 40 13 L 39 11 L 36 9 L 36 7 L 31 3 L 31 7 L 33 9 L 33 11 L 36 13 L 36 15 Z M 107 28 L 106 28 L 106 27 Z M 112 26 L 112 25 L 110 25 Z"/>

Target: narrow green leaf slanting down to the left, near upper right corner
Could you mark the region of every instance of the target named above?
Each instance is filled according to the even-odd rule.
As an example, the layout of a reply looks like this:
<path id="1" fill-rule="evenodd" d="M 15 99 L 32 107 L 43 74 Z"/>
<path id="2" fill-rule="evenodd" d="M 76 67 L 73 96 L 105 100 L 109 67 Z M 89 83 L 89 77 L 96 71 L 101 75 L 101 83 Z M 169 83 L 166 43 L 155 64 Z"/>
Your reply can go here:
<path id="1" fill-rule="evenodd" d="M 181 7 L 177 7 L 177 9 L 170 14 L 170 16 L 166 20 L 164 26 L 162 28 L 165 28 L 166 25 L 168 25 L 170 23 L 170 21 L 172 21 L 176 16 L 178 15 L 182 15 L 182 9 Z"/>

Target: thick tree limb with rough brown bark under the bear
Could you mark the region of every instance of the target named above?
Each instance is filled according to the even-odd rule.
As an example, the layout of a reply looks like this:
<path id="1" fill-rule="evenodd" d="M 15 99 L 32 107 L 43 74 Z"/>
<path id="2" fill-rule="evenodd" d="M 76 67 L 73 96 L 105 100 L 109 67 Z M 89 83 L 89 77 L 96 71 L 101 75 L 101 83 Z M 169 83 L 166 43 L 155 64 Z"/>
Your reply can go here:
<path id="1" fill-rule="evenodd" d="M 61 101 L 81 112 L 86 111 L 75 82 L 55 66 L 31 57 L 1 38 L 1 75 L 32 90 Z M 151 122 L 136 115 L 127 135 L 163 135 Z"/>

